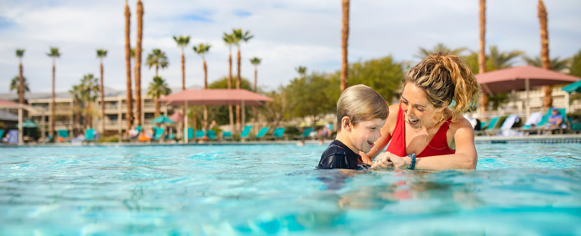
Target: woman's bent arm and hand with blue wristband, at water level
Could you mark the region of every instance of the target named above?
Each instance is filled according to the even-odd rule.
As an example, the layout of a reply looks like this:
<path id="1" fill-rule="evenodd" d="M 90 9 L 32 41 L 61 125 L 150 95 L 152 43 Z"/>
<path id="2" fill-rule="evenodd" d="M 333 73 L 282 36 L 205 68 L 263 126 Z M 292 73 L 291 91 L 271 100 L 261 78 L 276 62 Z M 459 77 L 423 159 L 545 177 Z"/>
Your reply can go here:
<path id="1" fill-rule="evenodd" d="M 456 153 L 450 155 L 439 155 L 432 157 L 422 157 L 415 159 L 415 169 L 476 169 L 478 154 L 474 145 L 474 129 L 470 122 L 463 119 L 458 122 L 461 126 L 456 130 L 454 140 L 456 141 Z M 392 153 L 381 155 L 382 162 L 392 162 L 396 169 L 410 167 L 410 157 L 398 157 Z M 378 163 L 371 166 L 375 168 Z"/>

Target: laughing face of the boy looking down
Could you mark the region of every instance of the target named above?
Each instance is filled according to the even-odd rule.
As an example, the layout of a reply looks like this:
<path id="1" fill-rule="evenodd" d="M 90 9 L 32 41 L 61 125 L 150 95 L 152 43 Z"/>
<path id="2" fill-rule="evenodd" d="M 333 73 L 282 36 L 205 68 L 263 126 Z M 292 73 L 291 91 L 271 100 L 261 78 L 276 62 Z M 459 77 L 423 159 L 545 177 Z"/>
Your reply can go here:
<path id="1" fill-rule="evenodd" d="M 357 150 L 368 153 L 374 146 L 374 142 L 381 137 L 381 127 L 385 125 L 387 119 L 372 119 L 371 121 L 362 121 L 352 126 L 349 139 Z"/>

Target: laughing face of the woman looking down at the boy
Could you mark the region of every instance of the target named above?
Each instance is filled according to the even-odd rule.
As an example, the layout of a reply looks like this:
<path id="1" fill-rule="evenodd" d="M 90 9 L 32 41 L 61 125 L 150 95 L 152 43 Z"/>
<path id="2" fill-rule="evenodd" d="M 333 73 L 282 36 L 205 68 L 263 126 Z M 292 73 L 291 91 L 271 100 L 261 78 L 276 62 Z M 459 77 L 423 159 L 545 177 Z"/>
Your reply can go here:
<path id="1" fill-rule="evenodd" d="M 401 93 L 401 110 L 406 114 L 405 121 L 414 129 L 421 126 L 432 126 L 436 122 L 436 113 L 444 110 L 444 106 L 435 108 L 428 101 L 424 89 L 413 83 L 406 83 Z"/>

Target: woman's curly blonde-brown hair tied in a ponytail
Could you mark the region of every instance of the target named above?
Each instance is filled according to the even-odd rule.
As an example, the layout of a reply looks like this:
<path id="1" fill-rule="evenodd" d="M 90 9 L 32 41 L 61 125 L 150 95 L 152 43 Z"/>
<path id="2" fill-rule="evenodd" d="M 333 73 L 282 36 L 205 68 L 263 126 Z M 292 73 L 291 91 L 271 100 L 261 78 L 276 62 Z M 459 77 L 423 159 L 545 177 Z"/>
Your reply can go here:
<path id="1" fill-rule="evenodd" d="M 424 89 L 433 107 L 449 106 L 454 101 L 452 121 L 460 121 L 462 115 L 471 110 L 482 90 L 472 71 L 460 57 L 448 53 L 429 55 L 410 69 L 406 83 Z"/>

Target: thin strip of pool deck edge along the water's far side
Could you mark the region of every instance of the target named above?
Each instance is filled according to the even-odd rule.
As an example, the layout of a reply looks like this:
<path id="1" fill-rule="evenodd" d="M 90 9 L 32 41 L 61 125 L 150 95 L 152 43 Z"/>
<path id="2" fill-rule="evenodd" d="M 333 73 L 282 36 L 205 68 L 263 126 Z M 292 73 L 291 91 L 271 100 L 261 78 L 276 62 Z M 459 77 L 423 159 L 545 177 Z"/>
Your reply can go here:
<path id="1" fill-rule="evenodd" d="M 330 140 L 325 140 L 325 144 Z M 305 144 L 318 144 L 318 140 L 306 140 Z M 71 146 L 149 146 L 149 145 L 164 145 L 164 146 L 185 146 L 185 145 L 232 145 L 232 144 L 298 144 L 299 140 L 276 140 L 276 141 L 207 141 L 205 143 L 45 143 L 45 144 L 24 144 L 19 147 L 71 147 Z M 566 135 L 527 135 L 527 136 L 475 136 L 474 143 L 581 143 L 581 134 L 566 134 Z M 14 144 L 0 144 L 0 147 L 18 147 Z"/>

